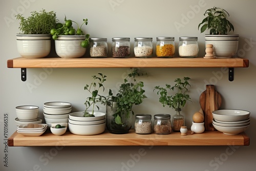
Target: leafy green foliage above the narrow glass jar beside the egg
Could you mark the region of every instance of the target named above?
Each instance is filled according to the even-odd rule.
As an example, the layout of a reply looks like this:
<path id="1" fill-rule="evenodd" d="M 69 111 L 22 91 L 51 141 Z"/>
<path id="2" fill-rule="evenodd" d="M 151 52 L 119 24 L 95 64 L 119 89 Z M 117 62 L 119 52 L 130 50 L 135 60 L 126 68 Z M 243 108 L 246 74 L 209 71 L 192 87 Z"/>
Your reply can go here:
<path id="1" fill-rule="evenodd" d="M 190 101 L 190 97 L 187 94 L 187 86 L 190 87 L 188 80 L 190 80 L 189 77 L 176 78 L 174 86 L 170 86 L 170 84 L 165 84 L 165 88 L 156 86 L 153 91 L 157 90 L 157 94 L 160 95 L 159 102 L 163 106 L 167 105 L 175 110 L 181 109 L 187 101 Z M 169 90 L 172 91 L 171 95 L 169 95 Z"/>

